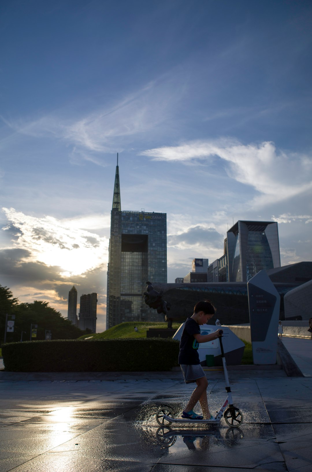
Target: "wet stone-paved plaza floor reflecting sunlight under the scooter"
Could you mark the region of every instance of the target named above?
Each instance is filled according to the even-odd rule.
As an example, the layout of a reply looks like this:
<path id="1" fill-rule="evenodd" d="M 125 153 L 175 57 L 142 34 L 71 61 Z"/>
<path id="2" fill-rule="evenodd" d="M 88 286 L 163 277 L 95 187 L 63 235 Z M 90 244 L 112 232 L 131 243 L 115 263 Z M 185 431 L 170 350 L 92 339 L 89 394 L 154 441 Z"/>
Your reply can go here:
<path id="1" fill-rule="evenodd" d="M 312 471 L 312 378 L 230 371 L 243 423 L 198 429 L 155 421 L 193 390 L 179 372 L 19 375 L 0 372 L 0 472 Z M 216 411 L 223 374 L 207 376 Z"/>

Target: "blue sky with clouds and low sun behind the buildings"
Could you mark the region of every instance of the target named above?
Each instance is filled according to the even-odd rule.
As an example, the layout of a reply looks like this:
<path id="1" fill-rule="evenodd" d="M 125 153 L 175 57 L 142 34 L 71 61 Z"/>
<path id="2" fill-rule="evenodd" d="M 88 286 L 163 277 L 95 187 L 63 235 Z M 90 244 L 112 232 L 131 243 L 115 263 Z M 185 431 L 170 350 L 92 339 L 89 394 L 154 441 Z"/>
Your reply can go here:
<path id="1" fill-rule="evenodd" d="M 122 210 L 167 213 L 168 282 L 277 221 L 312 260 L 312 3 L 2 0 L 0 284 L 67 316 L 106 271 Z"/>

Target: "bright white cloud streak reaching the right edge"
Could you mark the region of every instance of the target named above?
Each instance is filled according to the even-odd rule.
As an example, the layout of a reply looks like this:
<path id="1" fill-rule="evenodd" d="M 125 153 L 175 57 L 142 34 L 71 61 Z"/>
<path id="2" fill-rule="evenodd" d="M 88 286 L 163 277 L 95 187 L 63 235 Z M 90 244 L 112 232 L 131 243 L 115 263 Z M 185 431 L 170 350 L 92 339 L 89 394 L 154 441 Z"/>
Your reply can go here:
<path id="1" fill-rule="evenodd" d="M 227 163 L 228 176 L 259 194 L 253 205 L 282 201 L 312 189 L 312 158 L 277 150 L 274 143 L 242 144 L 234 139 L 197 140 L 141 152 L 152 160 Z"/>

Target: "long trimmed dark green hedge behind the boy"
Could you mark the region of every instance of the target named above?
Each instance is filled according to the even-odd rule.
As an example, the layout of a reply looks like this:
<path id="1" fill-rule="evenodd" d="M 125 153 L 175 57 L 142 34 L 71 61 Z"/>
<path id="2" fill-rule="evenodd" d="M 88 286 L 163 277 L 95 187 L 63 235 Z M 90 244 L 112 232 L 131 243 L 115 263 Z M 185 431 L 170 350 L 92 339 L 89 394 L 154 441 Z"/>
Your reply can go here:
<path id="1" fill-rule="evenodd" d="M 179 342 L 162 338 L 66 339 L 2 345 L 5 371 L 169 371 L 177 365 Z"/>

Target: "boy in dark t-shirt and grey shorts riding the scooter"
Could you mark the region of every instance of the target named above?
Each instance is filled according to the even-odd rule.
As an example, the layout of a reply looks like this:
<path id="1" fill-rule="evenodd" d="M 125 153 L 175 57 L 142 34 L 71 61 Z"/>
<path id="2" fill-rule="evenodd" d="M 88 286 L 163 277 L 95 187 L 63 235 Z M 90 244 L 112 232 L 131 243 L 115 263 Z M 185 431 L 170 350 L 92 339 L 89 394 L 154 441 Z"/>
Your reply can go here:
<path id="1" fill-rule="evenodd" d="M 184 324 L 181 340 L 178 363 L 184 375 L 186 384 L 196 382 L 197 387 L 191 395 L 186 405 L 182 418 L 190 420 L 211 420 L 213 419 L 207 400 L 208 380 L 199 361 L 197 349 L 199 343 L 213 341 L 220 336 L 219 329 L 211 334 L 201 335 L 200 325 L 206 324 L 215 314 L 216 309 L 208 300 L 196 303 L 193 315 Z M 193 408 L 199 401 L 203 416 L 194 413 Z"/>

